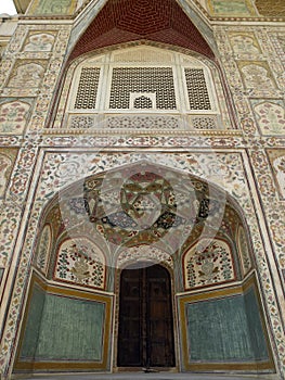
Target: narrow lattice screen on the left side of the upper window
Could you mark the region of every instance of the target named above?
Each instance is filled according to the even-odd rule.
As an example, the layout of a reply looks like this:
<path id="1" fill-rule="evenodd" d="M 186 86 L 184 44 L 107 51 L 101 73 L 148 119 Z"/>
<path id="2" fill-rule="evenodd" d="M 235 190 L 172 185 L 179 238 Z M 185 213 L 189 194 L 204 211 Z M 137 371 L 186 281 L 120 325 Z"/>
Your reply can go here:
<path id="1" fill-rule="evenodd" d="M 83 67 L 81 69 L 75 109 L 86 110 L 95 107 L 99 76 L 99 67 Z"/>

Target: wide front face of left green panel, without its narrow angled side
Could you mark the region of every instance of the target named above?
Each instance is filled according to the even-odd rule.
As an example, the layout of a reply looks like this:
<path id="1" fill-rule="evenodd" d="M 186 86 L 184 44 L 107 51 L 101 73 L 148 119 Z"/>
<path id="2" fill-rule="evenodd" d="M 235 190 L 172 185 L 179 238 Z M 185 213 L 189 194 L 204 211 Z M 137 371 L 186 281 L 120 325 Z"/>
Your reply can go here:
<path id="1" fill-rule="evenodd" d="M 105 304 L 47 294 L 36 359 L 101 360 Z"/>

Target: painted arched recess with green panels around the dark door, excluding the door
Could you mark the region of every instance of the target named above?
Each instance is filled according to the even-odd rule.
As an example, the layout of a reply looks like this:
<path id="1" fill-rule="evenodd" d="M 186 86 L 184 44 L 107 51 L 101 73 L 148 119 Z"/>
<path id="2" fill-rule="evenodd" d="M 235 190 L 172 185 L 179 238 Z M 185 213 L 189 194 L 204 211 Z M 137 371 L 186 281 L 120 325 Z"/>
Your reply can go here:
<path id="1" fill-rule="evenodd" d="M 37 256 L 35 259 L 16 369 L 28 366 L 25 363 L 42 370 L 51 367 L 56 369 L 59 366 L 67 370 L 74 363 L 77 363 L 77 370 L 113 369 L 116 364 L 111 362 L 109 346 L 114 344 L 115 338 L 112 335 L 111 320 L 116 319 L 118 314 L 113 314 L 115 308 L 112 304 L 115 295 L 119 297 L 114 278 L 118 278 L 121 270 L 116 267 L 116 263 L 121 253 L 129 249 L 129 258 L 124 261 L 124 267 L 128 263 L 138 264 L 140 257 L 135 254 L 132 256 L 132 253 L 135 253 L 135 246 L 141 245 L 144 250 L 147 245 L 157 248 L 154 254 L 166 253 L 159 253 L 160 257 L 157 258 L 161 259 L 161 264 L 156 261 L 156 265 L 165 265 L 167 255 L 172 257 L 170 267 L 173 266 L 172 289 L 176 296 L 173 315 L 178 327 L 174 330 L 173 352 L 179 355 L 178 370 L 258 372 L 274 369 L 247 226 L 236 202 L 222 189 L 185 172 L 145 160 L 72 183 L 55 194 L 43 215 L 41 228 L 42 231 L 48 231 L 48 246 L 53 249 L 47 253 L 46 271 L 38 264 L 41 261 L 37 261 Z M 57 225 L 50 220 L 54 215 L 60 217 Z M 217 216 L 221 216 L 221 219 Z M 76 223 L 73 225 L 72 220 Z M 217 220 L 220 220 L 219 228 Z M 44 227 L 48 224 L 49 227 Z M 208 228 L 205 228 L 207 224 Z M 181 232 L 186 230 L 189 233 L 182 239 Z M 82 279 L 73 282 L 73 277 L 59 279 L 52 275 L 56 268 L 61 270 L 63 265 L 59 252 L 66 250 L 67 236 L 75 242 L 83 240 L 85 244 L 88 240 L 99 250 L 90 257 L 87 252 L 77 257 L 72 257 L 72 254 L 62 255 L 69 271 L 74 268 L 80 270 L 82 264 L 81 274 L 92 275 L 93 264 L 89 259 L 94 263 L 94 255 L 98 254 L 101 261 L 98 259 L 96 263 L 100 262 L 102 266 L 102 257 L 105 256 L 108 267 L 104 287 L 90 287 Z M 42 239 L 39 242 L 42 243 Z M 193 259 L 195 255 L 197 257 Z M 147 257 L 142 258 L 145 261 Z M 229 261 L 232 261 L 231 265 Z M 189 263 L 194 263 L 194 269 L 186 283 L 183 273 L 185 274 Z M 100 268 L 96 267 L 96 270 Z M 209 276 L 210 270 L 213 276 Z M 229 271 L 232 273 L 231 276 L 228 276 Z M 220 277 L 215 279 L 217 273 Z M 196 280 L 193 281 L 193 277 Z M 205 281 L 205 278 L 210 281 Z M 36 307 L 37 302 L 41 303 L 40 308 Z M 74 313 L 82 318 L 80 311 L 83 305 L 87 307 L 85 326 L 95 324 L 96 328 L 92 331 L 82 328 L 75 333 L 68 329 L 65 319 L 61 320 L 61 311 L 64 308 L 65 318 L 68 315 L 74 317 Z M 205 313 L 205 320 L 209 324 L 207 328 L 202 318 Z M 62 349 L 49 351 L 46 330 L 49 326 L 47 318 L 51 315 L 57 320 L 55 330 L 67 329 L 65 331 L 70 334 L 70 340 L 77 341 L 76 347 L 69 346 L 67 354 L 61 351 L 64 350 L 61 341 L 59 347 Z M 195 315 L 199 316 L 198 319 L 195 319 Z M 36 330 L 33 324 L 35 318 L 38 324 Z M 34 329 L 33 333 L 30 329 Z M 212 341 L 209 341 L 207 331 L 209 337 L 215 337 Z M 30 340 L 25 338 L 29 333 L 35 339 L 34 351 L 30 349 Z M 87 339 L 90 333 L 98 337 L 96 341 L 100 339 L 103 342 L 101 347 L 92 345 L 93 341 Z M 61 333 L 56 337 L 55 334 L 55 341 Z M 81 349 L 83 352 L 86 350 L 86 343 L 93 350 L 93 354 L 90 354 L 90 347 L 88 349 L 88 362 L 79 355 Z M 37 343 L 42 341 L 44 345 Z M 70 344 L 73 347 L 75 341 L 70 341 Z M 44 355 L 49 356 L 49 360 Z M 64 355 L 69 355 L 68 365 L 64 364 Z M 28 362 L 25 362 L 27 358 Z"/>

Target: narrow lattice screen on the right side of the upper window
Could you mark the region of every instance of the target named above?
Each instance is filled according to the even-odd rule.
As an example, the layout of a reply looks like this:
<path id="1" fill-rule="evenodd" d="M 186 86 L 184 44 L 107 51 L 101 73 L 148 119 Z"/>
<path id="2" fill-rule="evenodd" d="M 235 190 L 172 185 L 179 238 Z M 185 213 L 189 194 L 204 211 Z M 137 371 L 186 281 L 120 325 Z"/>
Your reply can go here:
<path id="1" fill-rule="evenodd" d="M 185 78 L 191 110 L 210 110 L 211 103 L 203 68 L 185 68 Z"/>

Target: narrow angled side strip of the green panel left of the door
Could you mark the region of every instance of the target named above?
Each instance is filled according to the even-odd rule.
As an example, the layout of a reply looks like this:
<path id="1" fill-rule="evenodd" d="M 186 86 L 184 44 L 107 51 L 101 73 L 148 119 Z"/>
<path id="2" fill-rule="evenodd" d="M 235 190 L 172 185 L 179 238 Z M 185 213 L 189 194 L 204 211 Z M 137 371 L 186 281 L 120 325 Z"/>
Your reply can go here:
<path id="1" fill-rule="evenodd" d="M 36 355 L 44 297 L 46 294 L 42 289 L 37 287 L 33 289 L 27 324 L 20 355 L 21 358 L 34 359 Z"/>

